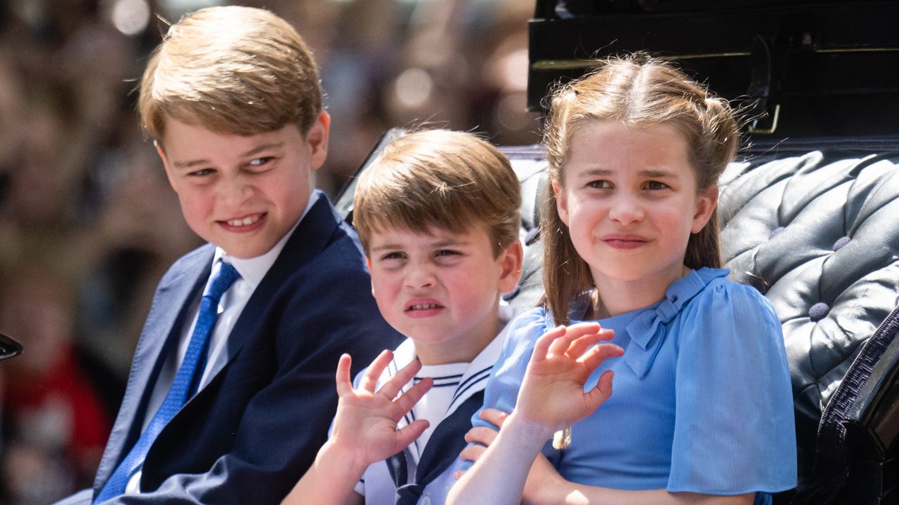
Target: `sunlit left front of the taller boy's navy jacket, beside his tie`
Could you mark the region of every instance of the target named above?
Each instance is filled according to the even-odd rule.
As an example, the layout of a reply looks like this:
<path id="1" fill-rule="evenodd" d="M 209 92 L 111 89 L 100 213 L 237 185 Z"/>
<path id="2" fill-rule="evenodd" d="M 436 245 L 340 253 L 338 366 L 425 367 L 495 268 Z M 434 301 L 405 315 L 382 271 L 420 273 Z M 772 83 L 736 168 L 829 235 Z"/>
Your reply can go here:
<path id="1" fill-rule="evenodd" d="M 131 363 L 125 396 L 97 469 L 94 488 L 106 483 L 116 465 L 140 436 L 147 401 L 156 385 L 168 351 L 182 330 L 184 316 L 193 297 L 209 277 L 215 248 L 211 245 L 184 257 L 156 289 L 153 306 L 141 332 Z M 177 315 L 173 317 L 172 315 Z"/>

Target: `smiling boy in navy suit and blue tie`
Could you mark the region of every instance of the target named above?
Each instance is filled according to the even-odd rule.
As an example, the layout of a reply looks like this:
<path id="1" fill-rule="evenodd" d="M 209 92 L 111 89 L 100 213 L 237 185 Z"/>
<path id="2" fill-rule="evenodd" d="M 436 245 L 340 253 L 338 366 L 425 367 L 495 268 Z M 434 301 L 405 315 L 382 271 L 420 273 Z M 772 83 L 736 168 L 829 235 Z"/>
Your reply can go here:
<path id="1" fill-rule="evenodd" d="M 93 490 L 67 502 L 278 502 L 325 442 L 339 356 L 399 341 L 357 236 L 313 190 L 316 64 L 272 13 L 202 9 L 150 58 L 138 108 L 209 244 L 160 281 Z"/>

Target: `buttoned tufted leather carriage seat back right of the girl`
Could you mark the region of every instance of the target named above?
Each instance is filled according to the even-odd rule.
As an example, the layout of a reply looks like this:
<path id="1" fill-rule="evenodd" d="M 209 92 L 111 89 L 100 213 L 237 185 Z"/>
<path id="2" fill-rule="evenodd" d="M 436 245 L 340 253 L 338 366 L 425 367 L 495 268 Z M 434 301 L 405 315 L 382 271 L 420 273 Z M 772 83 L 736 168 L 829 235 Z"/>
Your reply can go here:
<path id="1" fill-rule="evenodd" d="M 721 241 L 783 323 L 797 413 L 818 418 L 899 303 L 899 155 L 820 151 L 732 164 Z"/>

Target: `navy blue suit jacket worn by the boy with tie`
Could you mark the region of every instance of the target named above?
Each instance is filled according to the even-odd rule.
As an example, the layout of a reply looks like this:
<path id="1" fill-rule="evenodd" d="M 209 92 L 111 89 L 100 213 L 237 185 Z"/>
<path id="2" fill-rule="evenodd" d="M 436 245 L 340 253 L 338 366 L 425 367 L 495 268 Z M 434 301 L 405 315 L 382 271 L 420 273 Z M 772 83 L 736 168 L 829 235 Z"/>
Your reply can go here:
<path id="1" fill-rule="evenodd" d="M 159 282 L 93 490 L 64 503 L 92 500 L 140 436 L 214 252 L 188 253 Z M 327 438 L 341 354 L 355 375 L 401 340 L 371 297 L 358 237 L 320 195 L 247 302 L 227 359 L 150 447 L 143 492 L 106 503 L 280 503 Z"/>

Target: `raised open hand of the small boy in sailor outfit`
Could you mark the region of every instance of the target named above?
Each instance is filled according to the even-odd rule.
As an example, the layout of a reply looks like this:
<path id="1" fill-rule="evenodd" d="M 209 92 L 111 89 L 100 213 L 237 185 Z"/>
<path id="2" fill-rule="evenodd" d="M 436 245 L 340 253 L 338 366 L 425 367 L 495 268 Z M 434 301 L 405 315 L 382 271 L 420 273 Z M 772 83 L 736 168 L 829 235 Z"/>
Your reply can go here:
<path id="1" fill-rule="evenodd" d="M 368 466 L 395 455 L 428 427 L 428 421 L 417 420 L 396 430 L 396 423 L 412 410 L 433 384 L 430 377 L 425 378 L 400 394 L 403 386 L 422 368 L 418 360 L 406 365 L 375 392 L 378 377 L 391 359 L 391 351 L 381 352 L 361 377 L 358 389 L 353 389 L 350 379 L 350 355 L 341 356 L 337 364 L 339 400 L 330 443 L 352 454 L 356 465 Z"/>

